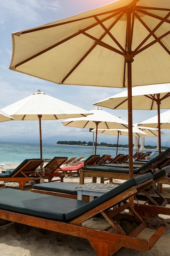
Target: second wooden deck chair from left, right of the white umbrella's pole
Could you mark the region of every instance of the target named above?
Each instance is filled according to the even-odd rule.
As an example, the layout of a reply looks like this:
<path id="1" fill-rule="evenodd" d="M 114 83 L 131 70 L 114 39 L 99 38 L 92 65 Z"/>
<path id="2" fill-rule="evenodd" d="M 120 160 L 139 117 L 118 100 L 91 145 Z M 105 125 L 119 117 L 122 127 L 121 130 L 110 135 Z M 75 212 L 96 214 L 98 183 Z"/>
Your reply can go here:
<path id="1" fill-rule="evenodd" d="M 68 157 L 54 157 L 51 159 L 51 161 L 43 167 L 44 178 L 51 182 L 53 177 L 59 177 L 61 182 L 63 182 L 66 172 L 62 171 L 61 165 L 64 164 L 67 159 Z"/>

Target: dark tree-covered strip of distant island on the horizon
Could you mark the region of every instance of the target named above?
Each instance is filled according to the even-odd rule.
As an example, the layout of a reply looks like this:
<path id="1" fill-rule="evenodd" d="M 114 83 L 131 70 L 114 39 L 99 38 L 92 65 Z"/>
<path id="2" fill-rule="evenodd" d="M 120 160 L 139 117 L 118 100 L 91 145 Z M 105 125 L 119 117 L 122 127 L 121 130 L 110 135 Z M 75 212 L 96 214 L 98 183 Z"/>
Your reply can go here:
<path id="1" fill-rule="evenodd" d="M 60 145 L 75 145 L 75 146 L 93 146 L 93 142 L 92 141 L 57 141 L 57 144 L 60 144 Z M 97 143 L 97 146 L 99 147 L 117 147 L 117 144 L 108 144 L 106 142 L 101 142 L 101 143 Z M 119 148 L 128 148 L 129 145 L 128 144 L 125 144 L 125 145 L 122 145 L 122 144 L 119 144 Z M 139 145 L 140 147 L 140 145 Z M 147 149 L 156 149 L 157 146 L 150 146 L 150 145 L 146 145 L 145 148 Z M 168 147 L 164 147 L 162 146 L 161 149 L 163 150 L 166 150 Z"/>

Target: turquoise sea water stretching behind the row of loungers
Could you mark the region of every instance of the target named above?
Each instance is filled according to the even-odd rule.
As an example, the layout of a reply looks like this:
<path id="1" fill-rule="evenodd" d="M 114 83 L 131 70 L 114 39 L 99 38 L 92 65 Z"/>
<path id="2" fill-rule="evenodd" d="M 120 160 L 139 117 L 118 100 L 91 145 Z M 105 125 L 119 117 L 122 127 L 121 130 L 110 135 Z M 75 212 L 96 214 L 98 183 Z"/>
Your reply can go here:
<path id="1" fill-rule="evenodd" d="M 150 151 L 150 150 L 146 150 Z M 134 150 L 134 153 L 136 150 Z M 128 154 L 128 148 L 118 149 L 118 154 Z M 116 156 L 116 148 L 97 147 L 97 155 Z M 42 144 L 42 157 L 53 158 L 55 156 L 63 157 L 82 157 L 84 159 L 94 155 L 92 146 L 72 146 L 57 144 Z M 20 164 L 24 159 L 40 158 L 40 144 L 0 142 L 0 165 Z"/>

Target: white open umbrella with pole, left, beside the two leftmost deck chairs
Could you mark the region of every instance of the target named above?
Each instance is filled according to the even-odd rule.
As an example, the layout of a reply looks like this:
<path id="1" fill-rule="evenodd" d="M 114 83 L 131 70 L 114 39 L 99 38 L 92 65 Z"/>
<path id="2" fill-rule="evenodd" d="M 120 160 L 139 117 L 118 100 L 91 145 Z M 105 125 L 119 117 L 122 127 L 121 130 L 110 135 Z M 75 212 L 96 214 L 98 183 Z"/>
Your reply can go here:
<path id="1" fill-rule="evenodd" d="M 15 118 L 15 120 L 39 120 L 40 158 L 42 158 L 41 120 L 57 120 L 91 115 L 87 110 L 55 99 L 54 97 L 42 93 L 40 90 L 29 97 L 2 108 L 2 110 Z"/>

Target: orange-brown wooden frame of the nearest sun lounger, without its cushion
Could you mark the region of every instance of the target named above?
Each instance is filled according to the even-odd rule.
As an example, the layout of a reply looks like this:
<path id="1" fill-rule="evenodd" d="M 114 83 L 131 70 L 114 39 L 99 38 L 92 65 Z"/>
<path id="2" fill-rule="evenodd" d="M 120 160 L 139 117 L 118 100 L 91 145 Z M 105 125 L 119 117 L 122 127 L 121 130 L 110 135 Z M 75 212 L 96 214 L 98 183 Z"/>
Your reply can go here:
<path id="1" fill-rule="evenodd" d="M 130 189 L 127 189 L 123 193 L 100 204 L 98 207 L 95 207 L 87 213 L 84 213 L 82 216 L 79 216 L 69 223 L 5 210 L 0 210 L 0 218 L 10 222 L 18 222 L 24 225 L 30 225 L 33 227 L 47 229 L 71 236 L 86 238 L 98 256 L 111 256 L 119 249 L 121 249 L 121 247 L 137 249 L 140 251 L 150 250 L 166 230 L 166 221 L 141 218 L 135 209 L 133 209 L 128 203 L 128 198 L 135 195 L 136 193 L 139 193 L 139 191 L 146 189 L 148 186 L 151 186 L 153 183 L 154 182 L 151 179 L 137 186 L 132 186 Z M 120 206 L 120 203 L 123 203 L 123 205 Z M 113 209 L 113 205 L 117 205 L 117 208 Z M 108 209 L 110 210 L 108 211 Z M 132 219 L 134 220 L 135 218 L 135 221 L 139 225 L 138 227 L 134 226 L 133 230 L 129 230 L 127 228 L 124 229 L 119 225 L 122 217 L 125 218 L 124 214 L 121 214 L 121 212 L 125 209 L 129 209 L 129 211 L 133 214 L 133 216 L 126 215 L 126 221 L 129 220 L 131 222 Z M 105 218 L 109 223 L 109 229 L 103 231 L 99 229 L 83 227 L 81 225 L 82 222 L 96 216 L 99 213 L 102 214 L 103 218 Z M 117 222 L 117 220 L 119 220 L 119 222 Z M 148 224 L 153 225 L 154 228 L 157 228 L 157 230 L 154 231 L 154 234 L 152 234 L 149 239 L 137 238 L 137 235 L 140 234 L 140 232 L 146 227 L 148 227 Z M 115 229 L 117 233 L 108 231 L 112 228 Z"/>

